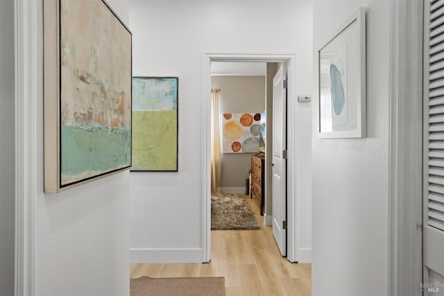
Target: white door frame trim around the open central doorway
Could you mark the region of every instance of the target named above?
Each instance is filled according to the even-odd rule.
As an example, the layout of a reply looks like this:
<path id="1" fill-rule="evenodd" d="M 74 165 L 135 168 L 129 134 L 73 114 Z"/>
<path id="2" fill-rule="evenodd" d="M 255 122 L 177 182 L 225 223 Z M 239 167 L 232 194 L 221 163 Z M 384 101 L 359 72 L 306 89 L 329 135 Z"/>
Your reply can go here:
<path id="1" fill-rule="evenodd" d="M 210 187 L 211 187 L 211 177 L 210 177 L 210 100 L 208 99 L 208 94 L 210 94 L 211 88 L 211 63 L 212 62 L 282 62 L 288 65 L 287 77 L 288 85 L 287 92 L 289 98 L 296 94 L 296 84 L 295 82 L 295 69 L 296 65 L 296 54 L 270 54 L 270 55 L 245 55 L 245 54 L 216 54 L 216 53 L 205 53 L 204 56 L 204 67 L 203 73 L 205 73 L 204 83 L 203 83 L 203 95 L 202 106 L 203 114 L 205 114 L 204 126 L 208 127 L 206 133 L 203 135 L 203 145 L 205 146 L 205 155 L 203 155 L 202 171 L 203 171 L 203 188 L 202 188 L 202 205 L 203 205 L 203 223 L 202 223 L 202 238 L 203 238 L 203 262 L 210 261 L 210 250 L 211 250 L 211 203 L 210 203 Z M 293 112 L 296 108 L 296 103 L 289 100 L 287 114 Z M 291 126 L 293 125 L 294 119 L 288 116 L 287 125 L 289 126 L 289 137 L 287 138 L 287 145 L 289 150 L 293 147 L 295 140 L 291 136 Z M 296 164 L 292 162 L 289 157 L 288 171 L 287 175 L 289 180 L 291 176 L 296 173 Z M 297 194 L 294 190 L 294 185 L 292 182 L 287 184 L 287 259 L 291 262 L 297 262 L 296 256 L 296 245 L 297 245 L 297 219 L 296 219 L 296 204 L 297 204 Z"/>

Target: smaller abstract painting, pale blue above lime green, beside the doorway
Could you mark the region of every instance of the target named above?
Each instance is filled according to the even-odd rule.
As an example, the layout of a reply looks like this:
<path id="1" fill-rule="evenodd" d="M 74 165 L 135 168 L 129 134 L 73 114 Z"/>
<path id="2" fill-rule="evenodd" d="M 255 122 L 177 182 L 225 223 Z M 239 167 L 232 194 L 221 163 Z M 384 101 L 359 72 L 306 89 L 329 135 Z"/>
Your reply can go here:
<path id="1" fill-rule="evenodd" d="M 178 171 L 178 78 L 133 78 L 131 171 Z"/>

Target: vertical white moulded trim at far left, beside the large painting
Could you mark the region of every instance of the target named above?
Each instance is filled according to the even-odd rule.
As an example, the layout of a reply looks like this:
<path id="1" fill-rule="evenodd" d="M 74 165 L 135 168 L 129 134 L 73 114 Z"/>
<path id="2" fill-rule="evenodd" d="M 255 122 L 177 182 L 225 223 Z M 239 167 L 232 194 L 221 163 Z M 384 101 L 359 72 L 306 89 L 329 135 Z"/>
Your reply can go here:
<path id="1" fill-rule="evenodd" d="M 15 0 L 15 296 L 34 295 L 35 111 L 41 3 Z"/>

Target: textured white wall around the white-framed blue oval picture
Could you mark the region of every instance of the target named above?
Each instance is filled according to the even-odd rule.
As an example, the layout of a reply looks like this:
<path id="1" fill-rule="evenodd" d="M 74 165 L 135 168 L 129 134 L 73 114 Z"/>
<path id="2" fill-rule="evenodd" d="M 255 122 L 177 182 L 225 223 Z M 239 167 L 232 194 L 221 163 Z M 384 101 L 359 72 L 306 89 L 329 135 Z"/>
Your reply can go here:
<path id="1" fill-rule="evenodd" d="M 313 295 L 388 294 L 390 1 L 316 0 L 314 49 L 359 6 L 367 7 L 368 136 L 317 139 L 314 133 Z"/>

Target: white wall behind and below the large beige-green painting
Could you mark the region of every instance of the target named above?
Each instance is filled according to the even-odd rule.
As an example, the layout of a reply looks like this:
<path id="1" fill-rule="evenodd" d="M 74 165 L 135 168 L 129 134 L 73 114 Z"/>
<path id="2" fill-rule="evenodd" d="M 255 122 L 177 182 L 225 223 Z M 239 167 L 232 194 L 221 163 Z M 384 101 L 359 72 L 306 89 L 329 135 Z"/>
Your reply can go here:
<path id="1" fill-rule="evenodd" d="M 123 21 L 129 1 L 108 0 Z M 114 5 L 117 4 L 117 5 Z M 42 41 L 42 5 L 37 40 Z M 39 42 L 39 43 L 40 43 Z M 27 54 L 27 53 L 25 53 Z M 129 295 L 129 173 L 43 193 L 42 48 L 37 49 L 34 202 L 34 295 Z"/>

